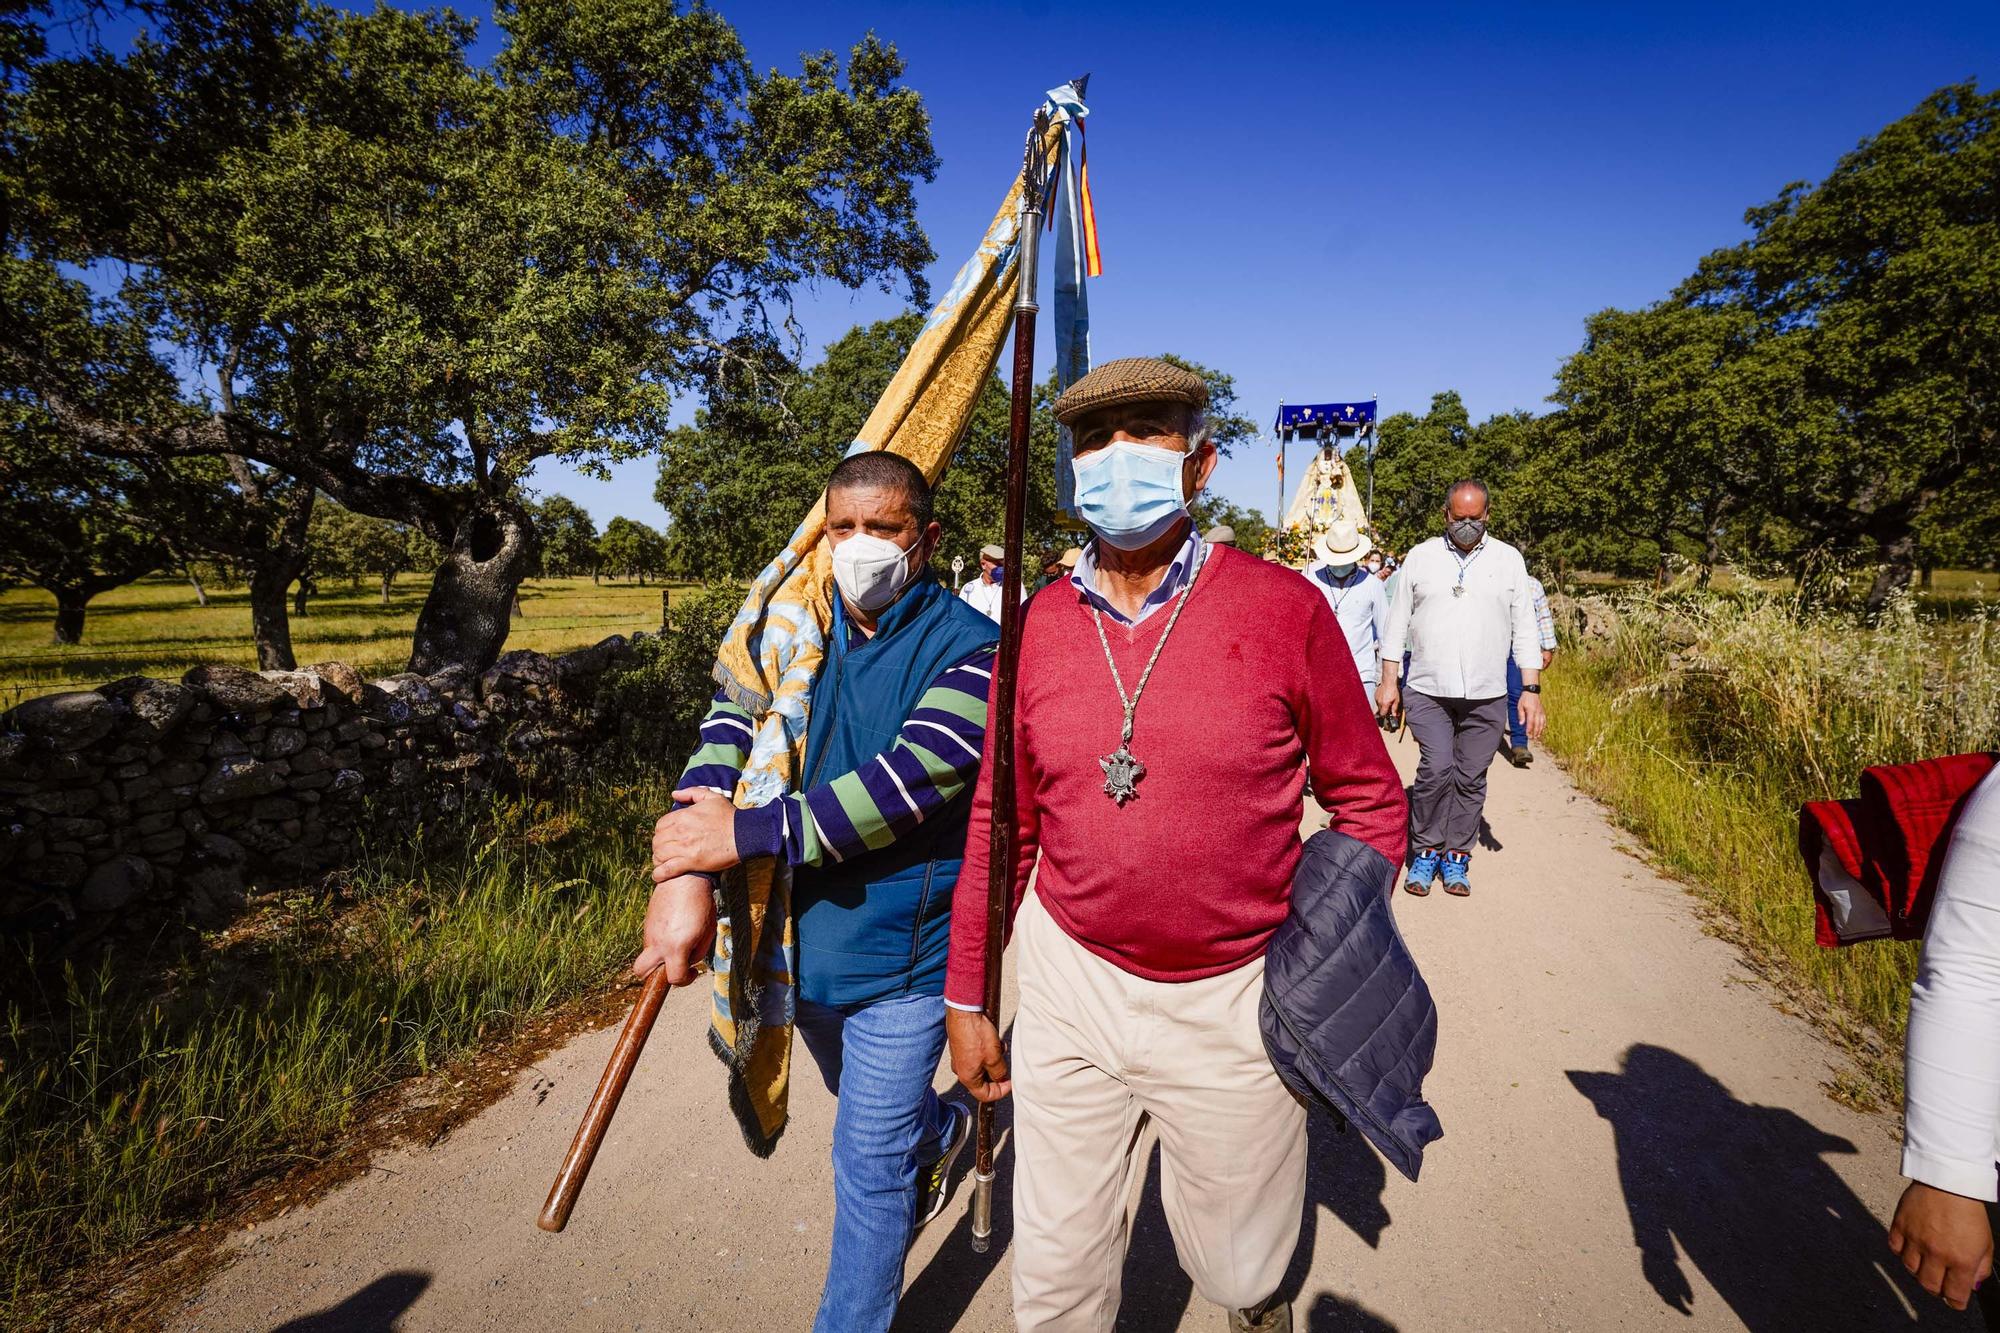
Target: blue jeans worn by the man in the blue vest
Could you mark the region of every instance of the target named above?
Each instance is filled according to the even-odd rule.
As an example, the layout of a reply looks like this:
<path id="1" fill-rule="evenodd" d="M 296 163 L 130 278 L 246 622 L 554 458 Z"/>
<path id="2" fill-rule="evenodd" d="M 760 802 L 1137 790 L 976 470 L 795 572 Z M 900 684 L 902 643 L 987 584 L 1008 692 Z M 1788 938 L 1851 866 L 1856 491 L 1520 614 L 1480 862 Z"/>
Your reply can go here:
<path id="1" fill-rule="evenodd" d="M 816 1333 L 888 1329 L 916 1227 L 916 1167 L 952 1119 L 930 1089 L 944 1053 L 944 997 L 832 1009 L 798 1001 L 798 1035 L 840 1099 L 834 1111 L 834 1245 Z"/>

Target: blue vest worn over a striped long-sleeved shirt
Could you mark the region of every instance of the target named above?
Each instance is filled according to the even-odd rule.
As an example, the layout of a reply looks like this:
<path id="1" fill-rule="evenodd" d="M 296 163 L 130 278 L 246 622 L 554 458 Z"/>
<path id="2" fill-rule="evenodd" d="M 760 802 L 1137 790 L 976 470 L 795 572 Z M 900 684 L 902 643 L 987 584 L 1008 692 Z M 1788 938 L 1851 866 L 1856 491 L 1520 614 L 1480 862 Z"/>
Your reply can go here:
<path id="1" fill-rule="evenodd" d="M 1000 626 L 928 570 L 848 644 L 840 598 L 826 662 L 812 685 L 806 787 L 852 773 L 890 749 L 930 683 L 1000 638 Z M 968 787 L 902 839 L 850 861 L 798 867 L 798 993 L 818 1005 L 874 1005 L 944 993 L 952 887 L 966 853 Z"/>

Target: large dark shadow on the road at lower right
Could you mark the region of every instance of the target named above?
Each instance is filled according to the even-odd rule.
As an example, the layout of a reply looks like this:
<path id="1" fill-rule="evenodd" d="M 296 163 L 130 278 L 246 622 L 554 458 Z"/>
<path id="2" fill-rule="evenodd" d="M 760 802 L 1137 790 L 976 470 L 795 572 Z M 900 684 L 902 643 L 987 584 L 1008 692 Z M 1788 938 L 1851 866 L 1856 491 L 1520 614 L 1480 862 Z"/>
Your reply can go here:
<path id="1" fill-rule="evenodd" d="M 1612 1123 L 1618 1183 L 1640 1269 L 1668 1307 L 1692 1315 L 1700 1269 L 1750 1333 L 1794 1329 L 1974 1327 L 1926 1295 L 1888 1251 L 1826 1153 L 1854 1153 L 1784 1107 L 1736 1101 L 1708 1071 L 1634 1045 L 1622 1073 L 1568 1071 Z"/>

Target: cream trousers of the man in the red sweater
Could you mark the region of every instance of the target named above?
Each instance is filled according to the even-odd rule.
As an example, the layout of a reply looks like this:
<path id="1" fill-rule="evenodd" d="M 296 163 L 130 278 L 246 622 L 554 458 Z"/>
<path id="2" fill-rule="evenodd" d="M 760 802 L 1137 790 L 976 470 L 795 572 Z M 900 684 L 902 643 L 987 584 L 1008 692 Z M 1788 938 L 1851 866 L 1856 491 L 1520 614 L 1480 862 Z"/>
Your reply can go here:
<path id="1" fill-rule="evenodd" d="M 1014 1323 L 1114 1325 L 1148 1125 L 1196 1291 L 1224 1309 L 1270 1297 L 1298 1247 L 1306 1111 L 1258 1035 L 1264 961 L 1146 981 L 1072 941 L 1036 895 L 1014 939 Z"/>

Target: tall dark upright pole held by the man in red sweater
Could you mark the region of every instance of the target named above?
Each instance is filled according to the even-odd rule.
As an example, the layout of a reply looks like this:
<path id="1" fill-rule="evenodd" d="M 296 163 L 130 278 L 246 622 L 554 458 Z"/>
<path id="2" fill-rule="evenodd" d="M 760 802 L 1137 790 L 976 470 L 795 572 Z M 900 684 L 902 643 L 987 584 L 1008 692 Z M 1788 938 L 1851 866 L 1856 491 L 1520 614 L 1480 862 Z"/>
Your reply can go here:
<path id="1" fill-rule="evenodd" d="M 1082 80 L 1078 94 L 1082 94 Z M 1034 114 L 1020 178 L 1020 248 L 1014 262 L 1020 286 L 1014 296 L 1014 396 L 1006 442 L 1006 540 L 1000 566 L 1000 656 L 994 662 L 994 707 L 988 727 L 992 749 L 992 831 L 986 861 L 986 1019 L 1000 1031 L 1000 953 L 1006 945 L 1006 911 L 1014 895 L 1020 845 L 1014 841 L 1014 681 L 1020 671 L 1020 570 L 1028 528 L 1028 426 L 1034 408 L 1034 272 L 1042 236 L 1042 192 L 1048 164 L 1048 110 Z M 972 1167 L 972 1249 L 986 1253 L 994 1235 L 994 1105 L 978 1109 L 976 1161 Z"/>

